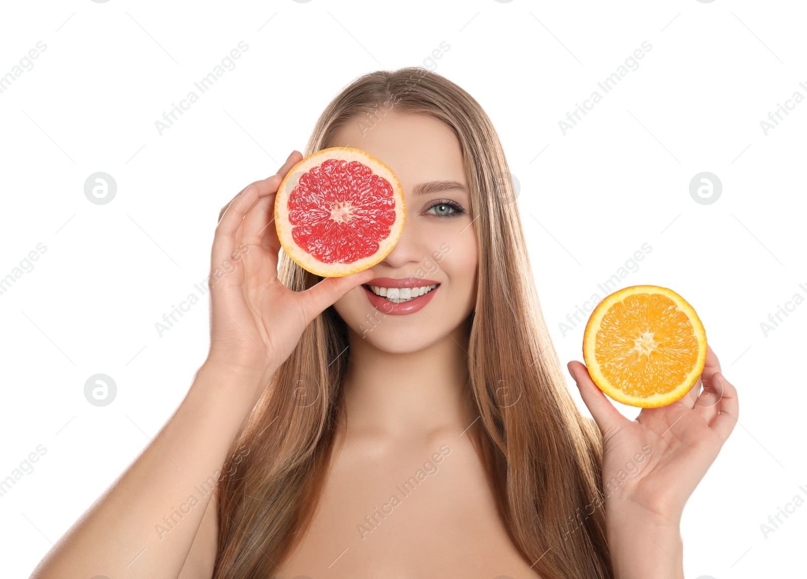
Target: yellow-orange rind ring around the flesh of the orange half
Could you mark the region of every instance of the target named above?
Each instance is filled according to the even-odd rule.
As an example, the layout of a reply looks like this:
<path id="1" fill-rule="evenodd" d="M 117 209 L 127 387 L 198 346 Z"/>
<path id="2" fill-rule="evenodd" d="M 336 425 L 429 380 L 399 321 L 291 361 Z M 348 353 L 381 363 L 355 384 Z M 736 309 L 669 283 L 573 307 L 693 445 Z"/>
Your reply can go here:
<path id="1" fill-rule="evenodd" d="M 698 339 L 698 355 L 695 364 L 684 378 L 684 381 L 676 386 L 675 389 L 671 389 L 666 394 L 653 394 L 652 396 L 646 398 L 629 396 L 621 389 L 611 385 L 608 378 L 605 377 L 600 371 L 600 364 L 596 360 L 595 348 L 597 331 L 600 329 L 600 323 L 604 315 L 615 303 L 621 302 L 627 296 L 633 294 L 662 294 L 663 296 L 670 298 L 673 302 L 675 302 L 675 305 L 678 306 L 679 310 L 686 314 L 689 322 L 692 323 L 692 329 Z M 689 390 L 692 389 L 692 386 L 697 383 L 700 373 L 703 372 L 706 364 L 706 331 L 703 323 L 700 322 L 700 318 L 698 318 L 698 314 L 696 314 L 695 309 L 673 290 L 661 287 L 659 285 L 631 285 L 608 295 L 603 299 L 602 302 L 597 304 L 596 308 L 592 312 L 592 315 L 588 319 L 586 329 L 583 333 L 583 359 L 586 361 L 588 375 L 597 385 L 597 388 L 607 394 L 608 397 L 613 398 L 617 402 L 627 404 L 628 406 L 638 406 L 640 408 L 658 408 L 659 406 L 667 406 L 676 400 L 684 398 Z"/>

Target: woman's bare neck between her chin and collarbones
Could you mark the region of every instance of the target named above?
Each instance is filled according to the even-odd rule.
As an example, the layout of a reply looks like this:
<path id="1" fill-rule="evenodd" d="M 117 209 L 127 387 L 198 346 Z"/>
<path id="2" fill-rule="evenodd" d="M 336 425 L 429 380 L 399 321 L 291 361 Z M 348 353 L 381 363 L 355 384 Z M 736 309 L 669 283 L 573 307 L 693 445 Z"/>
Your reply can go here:
<path id="1" fill-rule="evenodd" d="M 468 325 L 417 352 L 390 353 L 349 330 L 343 382 L 348 431 L 389 439 L 428 437 L 475 419 L 467 369 Z"/>

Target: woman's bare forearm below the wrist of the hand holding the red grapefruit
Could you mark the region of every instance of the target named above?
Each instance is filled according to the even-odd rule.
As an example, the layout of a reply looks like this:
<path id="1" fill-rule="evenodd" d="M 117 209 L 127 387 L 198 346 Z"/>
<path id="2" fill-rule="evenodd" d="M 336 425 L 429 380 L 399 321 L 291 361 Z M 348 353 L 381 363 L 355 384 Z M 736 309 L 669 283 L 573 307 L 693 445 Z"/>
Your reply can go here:
<path id="1" fill-rule="evenodd" d="M 207 362 L 151 444 L 62 536 L 31 576 L 176 579 L 228 448 L 266 376 Z"/>

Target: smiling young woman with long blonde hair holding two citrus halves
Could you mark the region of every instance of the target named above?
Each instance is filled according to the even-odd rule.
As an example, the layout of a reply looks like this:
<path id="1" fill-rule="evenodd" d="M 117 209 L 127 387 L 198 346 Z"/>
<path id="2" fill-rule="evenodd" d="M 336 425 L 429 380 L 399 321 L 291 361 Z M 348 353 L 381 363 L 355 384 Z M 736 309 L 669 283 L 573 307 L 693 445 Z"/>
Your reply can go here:
<path id="1" fill-rule="evenodd" d="M 297 151 L 237 194 L 213 240 L 207 360 L 33 577 L 684 577 L 684 503 L 738 417 L 711 348 L 700 398 L 633 421 L 571 361 L 584 418 L 479 103 L 423 69 L 370 73 L 305 152 L 328 147 L 395 171 L 398 244 L 328 279 L 281 252 L 274 197 Z M 373 286 L 434 288 L 379 309 Z"/>

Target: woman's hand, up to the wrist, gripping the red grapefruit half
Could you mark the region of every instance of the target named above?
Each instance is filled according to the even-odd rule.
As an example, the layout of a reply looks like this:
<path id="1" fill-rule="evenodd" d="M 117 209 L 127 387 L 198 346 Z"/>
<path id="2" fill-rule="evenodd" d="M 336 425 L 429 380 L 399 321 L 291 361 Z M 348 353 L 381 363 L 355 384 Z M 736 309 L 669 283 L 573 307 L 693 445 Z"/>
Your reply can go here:
<path id="1" fill-rule="evenodd" d="M 293 151 L 277 174 L 248 185 L 221 210 L 208 283 L 207 364 L 267 377 L 291 355 L 317 315 L 374 277 L 373 270 L 366 269 L 328 277 L 302 292 L 289 290 L 278 280 L 281 245 L 274 225 L 274 198 L 283 177 L 302 158 Z"/>

